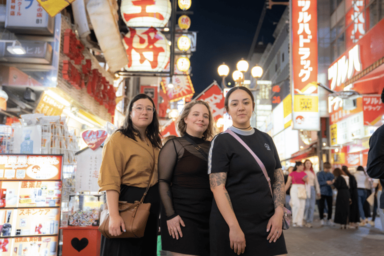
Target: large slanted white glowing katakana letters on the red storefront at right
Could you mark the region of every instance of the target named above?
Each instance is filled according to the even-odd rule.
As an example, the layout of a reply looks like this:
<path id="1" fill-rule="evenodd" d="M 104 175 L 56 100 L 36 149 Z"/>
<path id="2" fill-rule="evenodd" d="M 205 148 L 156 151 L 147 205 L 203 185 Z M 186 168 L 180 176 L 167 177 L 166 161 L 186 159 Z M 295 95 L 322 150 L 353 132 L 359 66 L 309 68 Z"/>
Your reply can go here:
<path id="1" fill-rule="evenodd" d="M 345 53 L 328 68 L 328 80 L 331 80 L 330 88 L 333 90 L 335 87 L 339 87 L 346 79 L 351 78 L 355 71 L 361 71 L 359 44 L 354 45 L 348 53 Z"/>

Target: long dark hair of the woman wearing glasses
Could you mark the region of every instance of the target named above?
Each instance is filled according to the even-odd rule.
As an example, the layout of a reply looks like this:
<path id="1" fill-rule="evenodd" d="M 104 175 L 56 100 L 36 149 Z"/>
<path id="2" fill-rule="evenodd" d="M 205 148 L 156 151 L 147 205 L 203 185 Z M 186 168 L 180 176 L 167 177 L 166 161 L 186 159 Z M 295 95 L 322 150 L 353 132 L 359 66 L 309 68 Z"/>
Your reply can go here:
<path id="1" fill-rule="evenodd" d="M 155 109 L 155 106 L 154 106 L 154 103 L 153 103 L 153 100 L 151 97 L 149 97 L 148 95 L 146 95 L 144 93 L 137 94 L 136 96 L 134 96 L 132 98 L 132 100 L 130 100 L 127 108 L 125 109 L 124 122 L 117 129 L 117 131 L 120 131 L 122 134 L 124 134 L 125 136 L 127 136 L 127 137 L 129 137 L 135 141 L 137 141 L 135 138 L 135 135 L 139 134 L 139 132 L 137 129 L 135 129 L 133 127 L 132 120 L 130 118 L 130 113 L 132 112 L 133 103 L 136 102 L 137 100 L 141 99 L 141 98 L 149 99 L 150 102 L 152 103 L 153 108 Z M 158 126 L 159 126 L 159 124 L 158 124 L 157 111 L 155 109 L 155 111 L 153 112 L 152 121 L 146 127 L 145 136 L 148 137 L 150 143 L 154 147 L 161 148 L 161 138 L 160 138 L 160 131 L 158 129 Z"/>

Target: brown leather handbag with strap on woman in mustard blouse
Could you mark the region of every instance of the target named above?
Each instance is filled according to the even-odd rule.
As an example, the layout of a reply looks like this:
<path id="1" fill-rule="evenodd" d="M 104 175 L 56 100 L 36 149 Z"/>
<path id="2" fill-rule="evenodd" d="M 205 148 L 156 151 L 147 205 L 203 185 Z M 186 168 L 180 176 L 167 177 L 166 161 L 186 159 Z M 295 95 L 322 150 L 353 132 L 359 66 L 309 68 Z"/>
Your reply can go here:
<path id="1" fill-rule="evenodd" d="M 140 201 L 135 201 L 134 203 L 128 203 L 124 201 L 118 202 L 118 213 L 124 220 L 126 231 L 117 236 L 112 236 L 109 233 L 109 211 L 107 204 L 105 203 L 104 209 L 100 213 L 100 225 L 98 226 L 98 230 L 102 235 L 107 238 L 140 238 L 144 235 L 146 221 L 148 220 L 149 216 L 150 203 L 143 203 L 143 201 L 146 193 L 148 192 L 150 181 L 152 180 L 155 163 L 156 162 L 153 149 L 152 171 L 150 172 L 148 185 L 146 186 L 145 192 L 142 195 Z"/>

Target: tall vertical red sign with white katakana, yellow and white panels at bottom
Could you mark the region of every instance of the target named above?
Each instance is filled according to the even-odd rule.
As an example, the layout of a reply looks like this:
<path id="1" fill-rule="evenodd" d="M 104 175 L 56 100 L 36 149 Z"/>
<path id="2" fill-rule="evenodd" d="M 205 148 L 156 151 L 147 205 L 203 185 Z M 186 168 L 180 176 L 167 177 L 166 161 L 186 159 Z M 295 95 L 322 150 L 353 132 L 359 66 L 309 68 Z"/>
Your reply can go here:
<path id="1" fill-rule="evenodd" d="M 293 129 L 320 130 L 317 97 L 317 0 L 292 1 Z"/>

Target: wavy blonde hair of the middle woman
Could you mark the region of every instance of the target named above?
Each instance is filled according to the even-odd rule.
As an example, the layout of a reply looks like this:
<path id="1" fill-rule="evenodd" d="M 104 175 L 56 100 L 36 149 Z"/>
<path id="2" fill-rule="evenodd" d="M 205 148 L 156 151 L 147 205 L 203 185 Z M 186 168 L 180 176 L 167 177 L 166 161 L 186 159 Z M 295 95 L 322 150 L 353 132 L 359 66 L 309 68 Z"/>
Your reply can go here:
<path id="1" fill-rule="evenodd" d="M 178 120 L 177 120 L 177 129 L 180 132 L 181 136 L 183 136 L 185 134 L 186 123 L 185 123 L 184 119 L 188 116 L 190 109 L 195 104 L 202 104 L 202 105 L 206 106 L 206 108 L 208 109 L 209 123 L 208 123 L 208 127 L 206 127 L 206 130 L 202 133 L 202 137 L 205 140 L 207 140 L 208 138 L 210 138 L 213 135 L 213 117 L 212 117 L 212 113 L 210 112 L 210 107 L 209 107 L 208 103 L 206 103 L 205 101 L 193 100 L 193 101 L 185 104 L 185 106 L 182 109 L 181 114 L 179 115 Z"/>

